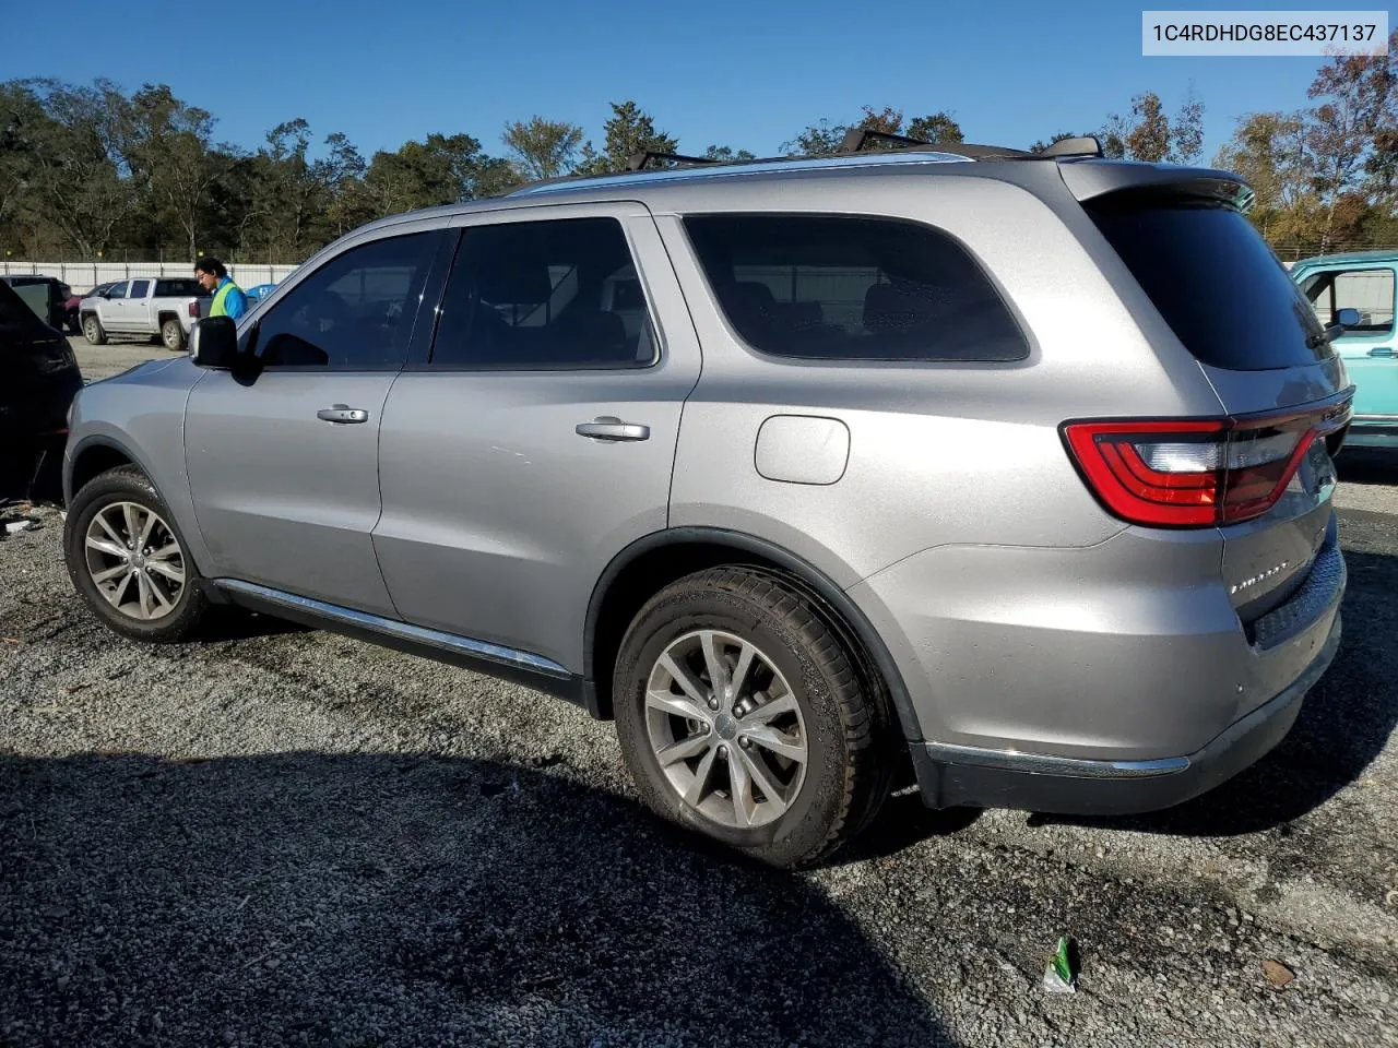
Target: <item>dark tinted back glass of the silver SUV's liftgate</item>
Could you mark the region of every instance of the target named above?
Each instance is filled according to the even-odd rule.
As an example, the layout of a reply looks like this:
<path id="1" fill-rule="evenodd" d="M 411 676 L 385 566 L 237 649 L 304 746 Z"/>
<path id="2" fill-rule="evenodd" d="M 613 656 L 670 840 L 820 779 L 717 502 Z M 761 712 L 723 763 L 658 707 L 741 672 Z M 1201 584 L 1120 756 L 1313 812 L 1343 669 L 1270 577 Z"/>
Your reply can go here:
<path id="1" fill-rule="evenodd" d="M 1296 282 L 1236 208 L 1123 196 L 1086 210 L 1199 362 L 1262 372 L 1331 354 Z"/>

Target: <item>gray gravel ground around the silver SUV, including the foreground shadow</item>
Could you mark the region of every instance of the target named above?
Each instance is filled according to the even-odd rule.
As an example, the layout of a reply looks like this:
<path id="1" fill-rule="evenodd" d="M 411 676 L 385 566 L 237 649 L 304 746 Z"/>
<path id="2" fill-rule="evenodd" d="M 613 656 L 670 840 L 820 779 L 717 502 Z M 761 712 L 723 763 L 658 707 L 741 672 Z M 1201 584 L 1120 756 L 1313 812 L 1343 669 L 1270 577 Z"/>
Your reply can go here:
<path id="1" fill-rule="evenodd" d="M 1391 500 L 1366 468 L 1346 504 Z M 1395 516 L 1343 511 L 1341 655 L 1213 794 L 899 796 L 790 875 L 650 819 L 558 700 L 257 616 L 119 640 L 39 513 L 0 539 L 0 1044 L 1398 1044 Z"/>

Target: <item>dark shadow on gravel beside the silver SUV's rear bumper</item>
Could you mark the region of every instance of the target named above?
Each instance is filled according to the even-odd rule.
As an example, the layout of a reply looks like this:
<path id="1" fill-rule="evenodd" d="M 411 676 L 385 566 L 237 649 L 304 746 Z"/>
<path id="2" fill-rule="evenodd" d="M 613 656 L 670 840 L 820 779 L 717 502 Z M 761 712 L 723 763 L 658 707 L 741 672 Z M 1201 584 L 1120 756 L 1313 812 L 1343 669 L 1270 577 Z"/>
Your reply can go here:
<path id="1" fill-rule="evenodd" d="M 1035 815 L 1035 824 L 1186 837 L 1258 833 L 1307 815 L 1356 781 L 1398 725 L 1398 558 L 1345 551 L 1343 639 L 1285 739 L 1257 764 L 1176 808 L 1137 816 Z"/>

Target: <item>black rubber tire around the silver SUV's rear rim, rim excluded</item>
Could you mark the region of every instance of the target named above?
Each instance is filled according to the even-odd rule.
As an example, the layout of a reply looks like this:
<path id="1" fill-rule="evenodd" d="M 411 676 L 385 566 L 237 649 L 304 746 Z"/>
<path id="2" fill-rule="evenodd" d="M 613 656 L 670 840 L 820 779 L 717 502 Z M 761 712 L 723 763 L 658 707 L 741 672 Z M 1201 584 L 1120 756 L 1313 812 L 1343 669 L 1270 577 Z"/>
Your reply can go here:
<path id="1" fill-rule="evenodd" d="M 650 742 L 646 689 L 668 646 L 695 630 L 755 644 L 787 679 L 804 718 L 808 763 L 790 808 L 761 827 L 727 826 L 685 802 Z M 765 864 L 809 866 L 874 819 L 896 770 L 886 703 L 819 608 L 781 580 L 717 567 L 686 576 L 637 612 L 618 653 L 612 694 L 624 759 L 660 816 Z"/>

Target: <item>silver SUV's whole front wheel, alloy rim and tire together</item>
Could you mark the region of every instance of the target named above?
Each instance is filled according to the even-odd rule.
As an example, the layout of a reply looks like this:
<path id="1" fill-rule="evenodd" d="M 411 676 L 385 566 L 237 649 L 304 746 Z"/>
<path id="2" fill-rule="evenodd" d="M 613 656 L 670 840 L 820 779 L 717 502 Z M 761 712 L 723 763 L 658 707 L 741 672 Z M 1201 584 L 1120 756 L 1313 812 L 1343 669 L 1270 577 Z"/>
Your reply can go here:
<path id="1" fill-rule="evenodd" d="M 98 618 L 134 640 L 183 640 L 206 609 L 175 518 L 134 467 L 110 470 L 73 499 L 63 524 L 69 577 Z"/>

